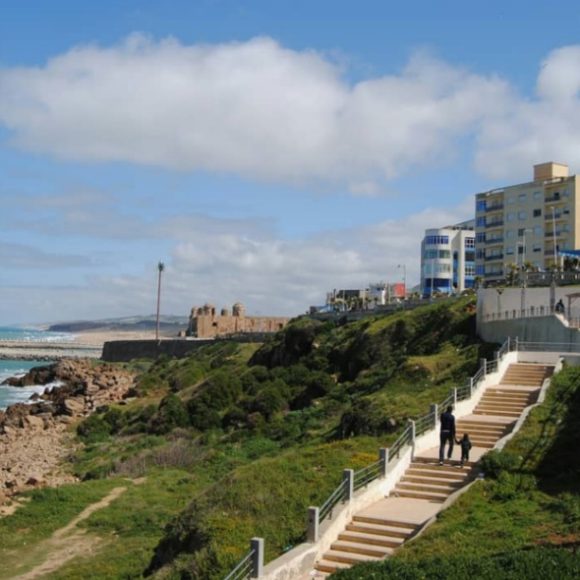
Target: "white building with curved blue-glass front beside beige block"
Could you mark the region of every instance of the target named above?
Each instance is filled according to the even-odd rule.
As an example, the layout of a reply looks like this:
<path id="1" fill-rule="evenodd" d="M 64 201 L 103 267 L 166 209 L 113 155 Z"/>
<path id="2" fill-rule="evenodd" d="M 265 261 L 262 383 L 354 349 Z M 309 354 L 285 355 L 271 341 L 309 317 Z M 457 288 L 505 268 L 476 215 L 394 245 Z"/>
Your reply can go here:
<path id="1" fill-rule="evenodd" d="M 425 230 L 421 242 L 421 294 L 454 294 L 475 280 L 474 220 Z"/>

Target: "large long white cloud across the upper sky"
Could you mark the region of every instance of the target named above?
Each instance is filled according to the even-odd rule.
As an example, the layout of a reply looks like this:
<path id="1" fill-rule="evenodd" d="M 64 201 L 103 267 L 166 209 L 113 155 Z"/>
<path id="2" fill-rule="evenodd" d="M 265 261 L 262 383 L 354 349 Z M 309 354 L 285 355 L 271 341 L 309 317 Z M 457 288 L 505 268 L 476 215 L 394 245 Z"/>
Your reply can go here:
<path id="1" fill-rule="evenodd" d="M 368 195 L 452 157 L 508 93 L 425 55 L 351 84 L 324 55 L 269 38 L 187 46 L 134 35 L 0 70 L 0 123 L 20 147 L 65 159 L 337 181 Z"/>

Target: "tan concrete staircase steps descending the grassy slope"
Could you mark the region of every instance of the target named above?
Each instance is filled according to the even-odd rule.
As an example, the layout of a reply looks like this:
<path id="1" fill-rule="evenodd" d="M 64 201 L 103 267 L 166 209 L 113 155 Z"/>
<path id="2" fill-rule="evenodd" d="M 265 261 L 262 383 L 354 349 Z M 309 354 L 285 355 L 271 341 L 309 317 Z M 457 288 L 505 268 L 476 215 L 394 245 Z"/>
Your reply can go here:
<path id="1" fill-rule="evenodd" d="M 486 389 L 473 414 L 457 420 L 457 438 L 469 434 L 474 460 L 463 467 L 457 460 L 446 460 L 441 466 L 438 448 L 415 457 L 388 498 L 353 517 L 316 563 L 314 577 L 326 577 L 359 562 L 382 560 L 411 538 L 450 495 L 472 479 L 477 460 L 513 429 L 552 372 L 549 365 L 510 365 L 500 384 Z M 458 453 L 456 447 L 454 454 Z"/>

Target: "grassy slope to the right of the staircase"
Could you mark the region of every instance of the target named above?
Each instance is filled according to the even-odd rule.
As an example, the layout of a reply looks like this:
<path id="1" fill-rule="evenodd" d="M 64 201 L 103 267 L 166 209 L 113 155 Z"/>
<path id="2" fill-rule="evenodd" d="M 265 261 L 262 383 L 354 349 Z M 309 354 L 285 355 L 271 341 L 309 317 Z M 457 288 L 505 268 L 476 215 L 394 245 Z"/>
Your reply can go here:
<path id="1" fill-rule="evenodd" d="M 546 401 L 436 524 L 389 561 L 338 579 L 580 577 L 580 368 L 555 376 Z"/>

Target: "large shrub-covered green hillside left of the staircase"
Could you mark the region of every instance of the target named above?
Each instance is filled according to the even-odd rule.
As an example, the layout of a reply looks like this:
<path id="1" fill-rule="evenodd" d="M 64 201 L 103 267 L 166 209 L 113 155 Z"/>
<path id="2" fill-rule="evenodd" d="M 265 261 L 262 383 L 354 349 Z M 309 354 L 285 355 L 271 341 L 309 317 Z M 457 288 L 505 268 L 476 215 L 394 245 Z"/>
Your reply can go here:
<path id="1" fill-rule="evenodd" d="M 19 518 L 54 505 L 33 494 L 0 520 L 0 537 L 18 532 L 0 555 L 30 569 L 25 554 L 118 486 L 119 499 L 78 524 L 99 548 L 51 577 L 220 578 L 256 535 L 279 555 L 302 541 L 307 507 L 343 468 L 374 461 L 408 417 L 474 372 L 486 346 L 473 310 L 464 298 L 349 324 L 304 317 L 261 347 L 216 343 L 135 363 L 139 396 L 77 428 L 84 447 L 71 469 L 82 482 L 59 490 L 76 498 L 70 510 L 18 535 Z"/>

